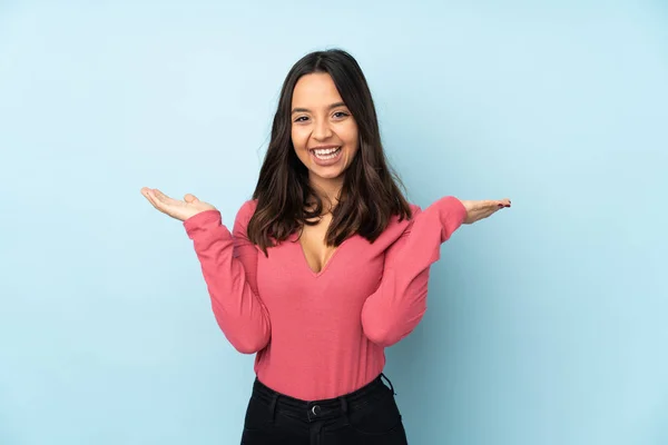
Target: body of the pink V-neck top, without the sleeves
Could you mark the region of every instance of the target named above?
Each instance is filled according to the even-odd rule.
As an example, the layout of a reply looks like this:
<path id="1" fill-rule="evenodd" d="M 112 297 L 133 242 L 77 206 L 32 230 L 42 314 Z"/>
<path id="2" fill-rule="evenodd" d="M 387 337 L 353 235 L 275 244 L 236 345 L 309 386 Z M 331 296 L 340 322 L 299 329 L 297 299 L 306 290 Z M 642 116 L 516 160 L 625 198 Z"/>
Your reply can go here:
<path id="1" fill-rule="evenodd" d="M 393 218 L 374 241 L 355 235 L 322 270 L 308 264 L 298 235 L 257 256 L 257 291 L 272 323 L 268 346 L 256 357 L 258 378 L 302 399 L 347 394 L 375 378 L 384 348 L 362 328 L 362 308 L 383 277 L 385 250 L 409 221 Z"/>

